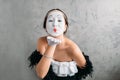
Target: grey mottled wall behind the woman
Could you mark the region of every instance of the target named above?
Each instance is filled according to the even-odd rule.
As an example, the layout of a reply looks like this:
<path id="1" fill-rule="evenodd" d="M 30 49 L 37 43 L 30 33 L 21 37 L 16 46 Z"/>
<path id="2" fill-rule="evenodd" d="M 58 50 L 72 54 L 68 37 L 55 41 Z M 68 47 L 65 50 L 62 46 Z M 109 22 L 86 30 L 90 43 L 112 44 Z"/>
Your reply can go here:
<path id="1" fill-rule="evenodd" d="M 120 0 L 0 0 L 0 80 L 38 80 L 27 57 L 52 8 L 67 14 L 67 36 L 93 61 L 87 80 L 120 80 Z"/>

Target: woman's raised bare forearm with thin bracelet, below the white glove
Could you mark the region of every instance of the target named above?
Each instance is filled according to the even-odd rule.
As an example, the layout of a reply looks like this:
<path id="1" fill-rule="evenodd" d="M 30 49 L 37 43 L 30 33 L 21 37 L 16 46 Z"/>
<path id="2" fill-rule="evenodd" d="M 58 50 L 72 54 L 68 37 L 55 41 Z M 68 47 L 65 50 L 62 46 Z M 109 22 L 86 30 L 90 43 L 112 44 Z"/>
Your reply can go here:
<path id="1" fill-rule="evenodd" d="M 53 57 L 56 46 L 48 46 L 44 55 Z M 36 73 L 40 78 L 44 78 L 49 70 L 52 59 L 43 56 L 39 63 L 36 65 Z"/>

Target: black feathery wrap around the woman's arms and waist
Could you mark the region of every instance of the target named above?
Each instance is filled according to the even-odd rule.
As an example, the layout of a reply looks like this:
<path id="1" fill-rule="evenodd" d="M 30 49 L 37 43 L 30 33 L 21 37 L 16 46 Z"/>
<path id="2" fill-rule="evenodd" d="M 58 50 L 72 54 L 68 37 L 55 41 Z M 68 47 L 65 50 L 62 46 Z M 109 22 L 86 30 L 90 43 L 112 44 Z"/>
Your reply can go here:
<path id="1" fill-rule="evenodd" d="M 58 77 L 55 75 L 55 73 L 52 70 L 52 66 L 50 66 L 50 69 L 48 71 L 48 74 L 45 76 L 43 80 L 81 80 L 85 79 L 88 75 L 92 77 L 93 72 L 93 65 L 92 62 L 89 59 L 88 55 L 85 55 L 83 52 L 83 55 L 86 59 L 86 65 L 84 68 L 78 68 L 78 73 L 76 73 L 74 76 L 67 76 L 67 77 Z M 30 61 L 29 67 L 31 69 L 38 64 L 40 61 L 42 55 L 37 50 L 33 51 L 32 54 L 28 57 L 28 60 Z"/>

